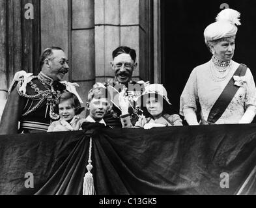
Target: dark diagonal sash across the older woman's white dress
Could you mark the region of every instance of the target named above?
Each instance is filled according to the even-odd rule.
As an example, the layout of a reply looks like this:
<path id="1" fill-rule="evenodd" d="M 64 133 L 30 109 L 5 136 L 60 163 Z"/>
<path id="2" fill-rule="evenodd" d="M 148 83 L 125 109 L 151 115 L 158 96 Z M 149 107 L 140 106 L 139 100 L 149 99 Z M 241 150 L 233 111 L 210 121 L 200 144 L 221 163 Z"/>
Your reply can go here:
<path id="1" fill-rule="evenodd" d="M 242 77 L 246 75 L 246 70 L 247 70 L 247 66 L 244 64 L 240 64 L 240 66 L 237 68 L 234 75 Z M 217 122 L 222 116 L 223 112 L 225 112 L 225 110 L 229 106 L 229 103 L 234 98 L 236 92 L 240 88 L 240 86 L 236 86 L 234 85 L 234 83 L 235 83 L 235 80 L 233 79 L 233 76 L 232 76 L 231 80 L 229 81 L 229 83 L 227 83 L 227 86 L 225 86 L 220 97 L 216 100 L 212 109 L 210 110 L 209 116 L 207 118 L 208 123 Z"/>

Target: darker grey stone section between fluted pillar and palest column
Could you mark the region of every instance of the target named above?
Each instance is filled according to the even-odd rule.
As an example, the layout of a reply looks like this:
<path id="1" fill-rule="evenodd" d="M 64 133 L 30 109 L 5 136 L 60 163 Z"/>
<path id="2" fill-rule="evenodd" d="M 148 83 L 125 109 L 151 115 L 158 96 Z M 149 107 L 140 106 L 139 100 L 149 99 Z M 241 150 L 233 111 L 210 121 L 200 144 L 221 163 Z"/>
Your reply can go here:
<path id="1" fill-rule="evenodd" d="M 65 79 L 78 83 L 78 93 L 87 101 L 95 83 L 94 0 L 41 1 L 41 40 L 42 49 L 64 49 L 70 59 Z"/>

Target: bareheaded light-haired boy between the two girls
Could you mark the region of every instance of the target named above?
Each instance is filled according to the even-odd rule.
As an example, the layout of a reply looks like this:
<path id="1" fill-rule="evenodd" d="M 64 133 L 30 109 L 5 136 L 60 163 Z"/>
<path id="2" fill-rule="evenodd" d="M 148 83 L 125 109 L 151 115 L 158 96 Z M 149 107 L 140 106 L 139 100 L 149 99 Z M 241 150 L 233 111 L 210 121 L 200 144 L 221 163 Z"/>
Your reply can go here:
<path id="1" fill-rule="evenodd" d="M 109 109 L 109 102 L 107 98 L 110 98 L 107 88 L 101 83 L 96 83 L 88 94 L 86 107 L 87 110 L 89 110 L 89 116 L 86 118 L 87 122 L 98 122 L 106 126 L 103 118 Z"/>

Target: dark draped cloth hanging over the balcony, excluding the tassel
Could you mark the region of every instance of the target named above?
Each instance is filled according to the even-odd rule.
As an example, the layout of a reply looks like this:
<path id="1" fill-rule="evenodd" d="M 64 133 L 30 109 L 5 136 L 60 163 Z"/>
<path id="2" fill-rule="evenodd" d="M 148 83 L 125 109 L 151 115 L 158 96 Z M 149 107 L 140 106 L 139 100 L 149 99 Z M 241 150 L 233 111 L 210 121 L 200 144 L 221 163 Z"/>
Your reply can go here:
<path id="1" fill-rule="evenodd" d="M 83 131 L 0 136 L 0 194 L 82 194 L 89 138 Z M 255 194 L 255 164 L 255 124 L 100 129 L 92 135 L 100 195 Z M 27 172 L 34 188 L 25 188 Z M 229 188 L 220 186 L 223 172 Z"/>

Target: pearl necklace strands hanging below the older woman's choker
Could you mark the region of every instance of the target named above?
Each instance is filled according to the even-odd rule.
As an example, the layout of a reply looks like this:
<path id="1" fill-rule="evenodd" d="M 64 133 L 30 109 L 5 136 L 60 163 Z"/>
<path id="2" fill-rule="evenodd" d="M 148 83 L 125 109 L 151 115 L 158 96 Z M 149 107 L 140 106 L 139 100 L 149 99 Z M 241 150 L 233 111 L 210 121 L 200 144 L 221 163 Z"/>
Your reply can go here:
<path id="1" fill-rule="evenodd" d="M 212 80 L 215 82 L 224 81 L 229 75 L 229 72 L 231 72 L 231 68 L 232 68 L 232 62 L 230 62 L 229 66 L 227 66 L 223 70 L 218 70 L 218 68 L 214 66 L 214 62 L 210 62 L 210 75 L 212 77 Z"/>

